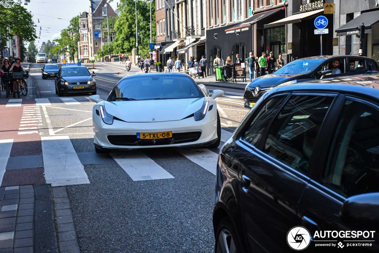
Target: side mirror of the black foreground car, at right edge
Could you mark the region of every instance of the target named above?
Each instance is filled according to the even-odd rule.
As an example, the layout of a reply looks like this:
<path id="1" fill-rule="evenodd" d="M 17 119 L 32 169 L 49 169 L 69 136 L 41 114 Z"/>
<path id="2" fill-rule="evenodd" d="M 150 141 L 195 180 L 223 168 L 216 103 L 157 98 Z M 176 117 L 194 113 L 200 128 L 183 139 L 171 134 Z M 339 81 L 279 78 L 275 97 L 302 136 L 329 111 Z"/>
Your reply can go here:
<path id="1" fill-rule="evenodd" d="M 379 192 L 365 193 L 346 199 L 340 210 L 341 218 L 347 220 L 379 221 Z"/>

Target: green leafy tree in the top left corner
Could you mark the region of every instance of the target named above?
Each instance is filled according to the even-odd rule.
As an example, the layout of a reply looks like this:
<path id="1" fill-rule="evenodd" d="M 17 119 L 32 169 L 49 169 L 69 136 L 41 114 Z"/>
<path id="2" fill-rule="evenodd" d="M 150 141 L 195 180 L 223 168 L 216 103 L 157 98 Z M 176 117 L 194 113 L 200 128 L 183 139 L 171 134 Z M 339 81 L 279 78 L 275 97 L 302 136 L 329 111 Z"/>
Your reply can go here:
<path id="1" fill-rule="evenodd" d="M 21 0 L 0 0 L 0 37 L 3 43 L 13 35 L 19 36 L 23 41 L 37 38 L 33 16 L 21 4 Z"/>

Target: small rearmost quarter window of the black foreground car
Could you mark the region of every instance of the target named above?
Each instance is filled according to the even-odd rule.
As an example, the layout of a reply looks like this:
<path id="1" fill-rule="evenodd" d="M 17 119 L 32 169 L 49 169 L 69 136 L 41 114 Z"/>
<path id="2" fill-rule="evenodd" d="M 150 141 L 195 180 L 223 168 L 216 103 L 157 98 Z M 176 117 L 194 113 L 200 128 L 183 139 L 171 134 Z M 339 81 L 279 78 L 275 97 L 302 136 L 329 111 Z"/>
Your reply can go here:
<path id="1" fill-rule="evenodd" d="M 273 119 L 284 99 L 285 96 L 277 96 L 268 100 L 262 108 L 260 108 L 258 114 L 254 116 L 242 139 L 255 145 L 262 138 L 268 124 Z"/>

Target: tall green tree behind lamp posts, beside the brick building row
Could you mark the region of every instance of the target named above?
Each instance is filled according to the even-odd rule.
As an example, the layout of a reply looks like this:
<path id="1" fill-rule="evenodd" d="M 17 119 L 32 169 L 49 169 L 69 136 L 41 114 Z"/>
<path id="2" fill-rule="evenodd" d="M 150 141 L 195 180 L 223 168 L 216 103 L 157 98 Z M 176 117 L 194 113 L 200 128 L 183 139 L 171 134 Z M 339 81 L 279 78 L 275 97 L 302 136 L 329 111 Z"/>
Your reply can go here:
<path id="1" fill-rule="evenodd" d="M 155 36 L 155 1 L 151 2 L 152 8 L 152 41 Z M 114 24 L 116 39 L 111 43 L 113 52 L 131 54 L 136 47 L 136 17 L 135 4 L 128 0 L 121 0 L 119 5 L 120 16 Z M 150 51 L 150 2 L 149 0 L 137 1 L 138 24 L 138 54 L 147 55 Z"/>

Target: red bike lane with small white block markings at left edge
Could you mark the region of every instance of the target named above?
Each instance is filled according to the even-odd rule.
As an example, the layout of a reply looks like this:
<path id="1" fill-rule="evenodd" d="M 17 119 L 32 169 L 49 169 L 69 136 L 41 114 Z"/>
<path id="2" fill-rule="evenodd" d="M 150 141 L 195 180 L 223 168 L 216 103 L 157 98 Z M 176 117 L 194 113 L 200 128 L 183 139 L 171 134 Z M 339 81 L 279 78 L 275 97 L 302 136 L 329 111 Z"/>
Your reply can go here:
<path id="1" fill-rule="evenodd" d="M 38 130 L 42 126 L 40 110 L 34 99 L 0 98 L 0 142 L 13 139 L 8 161 L 1 165 L 5 168 L 0 168 L 0 178 L 4 173 L 0 182 L 2 187 L 45 182 Z M 11 141 L 3 142 L 9 144 Z"/>

